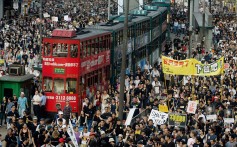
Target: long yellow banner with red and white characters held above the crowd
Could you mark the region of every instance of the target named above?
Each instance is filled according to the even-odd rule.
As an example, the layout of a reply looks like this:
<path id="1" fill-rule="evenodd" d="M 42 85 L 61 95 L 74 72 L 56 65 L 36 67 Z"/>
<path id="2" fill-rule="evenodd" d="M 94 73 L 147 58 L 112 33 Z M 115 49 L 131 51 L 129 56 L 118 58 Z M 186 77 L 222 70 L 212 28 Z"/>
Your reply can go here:
<path id="1" fill-rule="evenodd" d="M 224 57 L 211 64 L 202 64 L 196 59 L 174 60 L 162 56 L 162 69 L 165 74 L 212 76 L 224 71 Z"/>

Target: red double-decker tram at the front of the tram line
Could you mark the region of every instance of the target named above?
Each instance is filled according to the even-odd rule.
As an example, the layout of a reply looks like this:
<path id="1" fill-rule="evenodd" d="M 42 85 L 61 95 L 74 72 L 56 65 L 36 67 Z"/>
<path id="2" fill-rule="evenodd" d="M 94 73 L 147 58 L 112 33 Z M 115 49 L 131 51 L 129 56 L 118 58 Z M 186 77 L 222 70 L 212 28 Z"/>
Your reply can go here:
<path id="1" fill-rule="evenodd" d="M 57 112 L 70 100 L 80 113 L 86 89 L 108 80 L 111 33 L 99 30 L 54 30 L 43 38 L 42 79 L 46 111 Z M 98 86 L 97 86 L 98 87 Z"/>

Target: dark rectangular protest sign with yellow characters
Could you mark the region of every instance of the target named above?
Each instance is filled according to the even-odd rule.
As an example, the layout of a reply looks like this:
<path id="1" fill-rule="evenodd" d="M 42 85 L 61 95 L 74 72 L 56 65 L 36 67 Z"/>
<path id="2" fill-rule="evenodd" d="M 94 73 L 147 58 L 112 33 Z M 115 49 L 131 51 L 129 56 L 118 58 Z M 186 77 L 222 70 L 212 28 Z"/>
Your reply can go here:
<path id="1" fill-rule="evenodd" d="M 175 114 L 175 113 L 169 114 L 168 124 L 170 126 L 185 127 L 186 122 L 187 122 L 186 114 Z"/>

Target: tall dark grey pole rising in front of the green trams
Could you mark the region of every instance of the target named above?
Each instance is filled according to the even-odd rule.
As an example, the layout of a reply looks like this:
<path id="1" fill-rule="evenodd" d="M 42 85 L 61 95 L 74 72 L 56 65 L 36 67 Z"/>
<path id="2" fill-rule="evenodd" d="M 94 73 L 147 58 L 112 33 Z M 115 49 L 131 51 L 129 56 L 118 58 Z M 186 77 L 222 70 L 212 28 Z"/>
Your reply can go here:
<path id="1" fill-rule="evenodd" d="M 122 51 L 122 66 L 121 66 L 121 76 L 120 76 L 120 92 L 119 92 L 119 118 L 123 120 L 123 109 L 124 109 L 124 85 L 125 85 L 125 69 L 126 69 L 126 53 L 128 47 L 128 9 L 129 0 L 124 2 L 125 18 L 124 18 L 124 28 L 123 28 L 123 51 Z"/>

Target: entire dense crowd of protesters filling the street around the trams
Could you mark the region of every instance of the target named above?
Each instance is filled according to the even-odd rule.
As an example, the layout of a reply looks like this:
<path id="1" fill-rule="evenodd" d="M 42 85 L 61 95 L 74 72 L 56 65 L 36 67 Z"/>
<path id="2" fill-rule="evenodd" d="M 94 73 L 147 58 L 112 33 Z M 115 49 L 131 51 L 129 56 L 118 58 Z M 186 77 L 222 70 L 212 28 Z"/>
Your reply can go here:
<path id="1" fill-rule="evenodd" d="M 58 22 L 44 18 L 43 36 L 50 35 L 54 28 L 83 27 L 90 22 L 105 21 L 104 1 L 81 1 L 76 7 L 80 15 L 74 14 L 73 3 L 58 5 L 59 1 L 46 1 L 44 12 L 50 16 L 57 15 Z M 54 7 L 56 6 L 56 7 Z M 90 10 L 91 11 L 86 11 Z M 37 14 L 38 8 L 29 10 L 29 14 Z M 72 21 L 63 20 L 67 13 Z M 101 13 L 101 14 L 98 14 Z M 187 16 L 185 11 L 173 10 L 171 27 L 177 37 L 168 42 L 163 55 L 174 59 L 187 57 Z M 93 19 L 91 19 L 93 18 Z M 24 93 L 13 98 L 3 98 L 0 111 L 0 125 L 7 128 L 7 135 L 1 136 L 7 147 L 64 147 L 74 146 L 69 124 L 73 126 L 76 143 L 82 147 L 235 147 L 237 146 L 236 123 L 226 124 L 224 118 L 236 118 L 236 31 L 237 26 L 233 15 L 223 13 L 214 17 L 213 48 L 200 48 L 193 51 L 202 54 L 205 63 L 211 63 L 225 57 L 228 63 L 225 73 L 220 76 L 190 77 L 165 75 L 160 60 L 156 65 L 145 65 L 144 71 L 139 67 L 133 75 L 125 79 L 125 101 L 123 119 L 118 119 L 119 80 L 111 85 L 109 82 L 103 90 L 88 90 L 84 99 L 83 109 L 78 116 L 72 113 L 70 101 L 53 118 L 44 113 L 47 103 L 44 92 L 35 90 L 32 98 L 34 115 L 30 114 L 29 99 Z M 8 18 L 9 19 L 9 18 Z M 18 62 L 32 67 L 38 64 L 39 56 L 39 25 L 37 16 L 13 17 L 0 21 L 1 58 L 8 65 Z M 196 31 L 198 34 L 198 29 Z M 183 34 L 183 38 L 180 38 Z M 6 66 L 6 67 L 7 67 Z M 29 71 L 30 72 L 30 71 Z M 32 72 L 32 71 L 31 71 Z M 196 114 L 187 114 L 189 100 L 197 101 Z M 152 109 L 159 110 L 159 105 L 166 105 L 169 112 L 187 114 L 186 127 L 154 125 L 149 120 Z M 142 113 L 131 125 L 124 122 L 130 108 L 137 108 L 135 114 Z M 146 112 L 146 113 L 143 113 Z M 216 120 L 208 120 L 206 115 L 216 114 Z M 5 125 L 6 124 L 6 125 Z M 0 146 L 2 142 L 0 141 Z"/>

